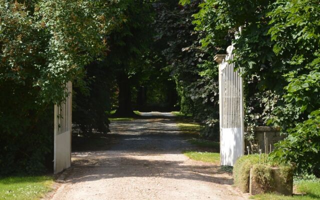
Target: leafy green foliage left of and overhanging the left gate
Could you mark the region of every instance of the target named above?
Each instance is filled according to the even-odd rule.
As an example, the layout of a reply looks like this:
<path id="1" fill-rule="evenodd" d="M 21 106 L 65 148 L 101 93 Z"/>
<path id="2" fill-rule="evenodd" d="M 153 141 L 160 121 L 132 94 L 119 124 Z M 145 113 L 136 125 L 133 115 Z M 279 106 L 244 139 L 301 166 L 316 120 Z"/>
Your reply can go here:
<path id="1" fill-rule="evenodd" d="M 0 172 L 44 169 L 52 156 L 53 103 L 105 49 L 116 22 L 105 0 L 0 0 Z M 112 16 L 114 15 L 114 16 Z M 47 156 L 46 156 L 47 155 Z"/>

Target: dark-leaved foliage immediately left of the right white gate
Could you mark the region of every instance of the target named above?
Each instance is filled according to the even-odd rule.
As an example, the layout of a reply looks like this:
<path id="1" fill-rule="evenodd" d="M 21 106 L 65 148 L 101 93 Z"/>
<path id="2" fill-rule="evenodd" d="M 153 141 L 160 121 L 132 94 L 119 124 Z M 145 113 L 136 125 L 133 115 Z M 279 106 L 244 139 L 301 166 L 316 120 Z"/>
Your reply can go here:
<path id="1" fill-rule="evenodd" d="M 215 48 L 201 49 L 202 32 L 194 30 L 192 14 L 199 8 L 200 0 L 181 6 L 177 1 L 156 3 L 156 42 L 164 56 L 165 70 L 171 72 L 180 97 L 181 112 L 192 114 L 205 126 L 204 135 L 218 139 L 218 85 L 217 68 L 214 67 Z"/>

